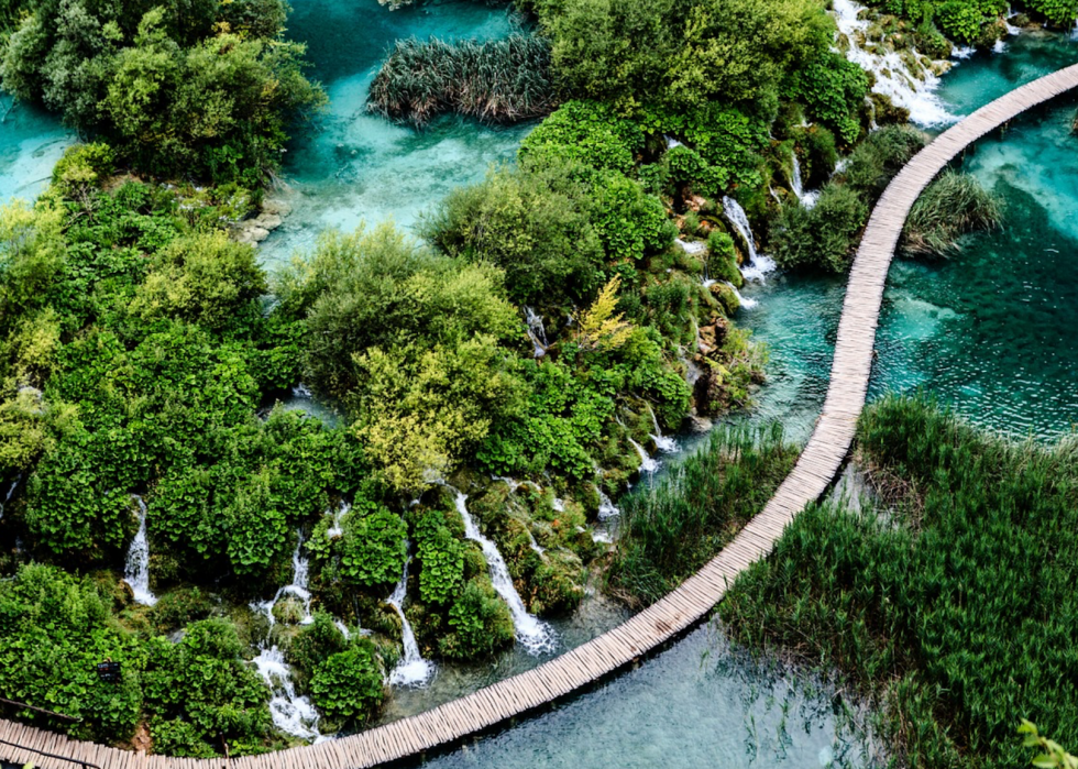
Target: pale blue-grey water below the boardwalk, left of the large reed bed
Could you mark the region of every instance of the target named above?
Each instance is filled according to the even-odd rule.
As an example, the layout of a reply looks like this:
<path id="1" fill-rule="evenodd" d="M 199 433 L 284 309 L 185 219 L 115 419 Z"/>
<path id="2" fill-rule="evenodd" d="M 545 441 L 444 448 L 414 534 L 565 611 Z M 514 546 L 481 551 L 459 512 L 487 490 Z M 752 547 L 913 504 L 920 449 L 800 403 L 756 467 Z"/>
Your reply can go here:
<path id="1" fill-rule="evenodd" d="M 422 766 L 864 767 L 867 744 L 828 689 L 761 669 L 702 627 L 631 672 Z"/>

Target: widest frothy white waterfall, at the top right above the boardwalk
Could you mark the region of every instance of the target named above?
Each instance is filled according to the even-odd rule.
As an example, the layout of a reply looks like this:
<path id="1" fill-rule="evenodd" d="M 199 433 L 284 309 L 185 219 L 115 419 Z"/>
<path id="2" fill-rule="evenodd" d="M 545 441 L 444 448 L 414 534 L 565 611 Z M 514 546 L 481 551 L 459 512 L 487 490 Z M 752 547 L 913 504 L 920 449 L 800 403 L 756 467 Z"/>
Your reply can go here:
<path id="1" fill-rule="evenodd" d="M 877 48 L 875 51 L 861 47 L 858 36 L 864 36 L 869 28 L 867 20 L 858 19 L 858 13 L 864 10 L 862 6 L 854 0 L 834 0 L 832 10 L 839 33 L 849 42 L 846 58 L 876 76 L 872 90 L 889 96 L 897 107 L 910 110 L 910 120 L 921 125 L 943 125 L 957 120 L 936 96 L 939 78 L 927 67 L 923 70 L 923 77 L 920 77 L 910 72 L 898 51 L 888 50 L 886 44 L 872 46 Z M 921 58 L 916 48 L 912 48 L 911 53 L 914 58 Z"/>

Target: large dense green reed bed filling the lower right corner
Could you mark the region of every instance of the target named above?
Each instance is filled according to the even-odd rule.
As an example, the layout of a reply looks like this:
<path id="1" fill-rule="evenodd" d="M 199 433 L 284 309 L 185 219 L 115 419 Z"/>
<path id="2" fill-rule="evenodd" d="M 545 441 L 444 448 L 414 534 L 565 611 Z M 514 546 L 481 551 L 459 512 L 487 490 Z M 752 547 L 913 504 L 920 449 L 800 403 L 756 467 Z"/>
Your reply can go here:
<path id="1" fill-rule="evenodd" d="M 1078 734 L 1078 444 L 1009 442 L 891 397 L 858 452 L 917 498 L 798 516 L 722 604 L 735 637 L 873 697 L 900 763 L 1027 763 L 1021 717 Z"/>

